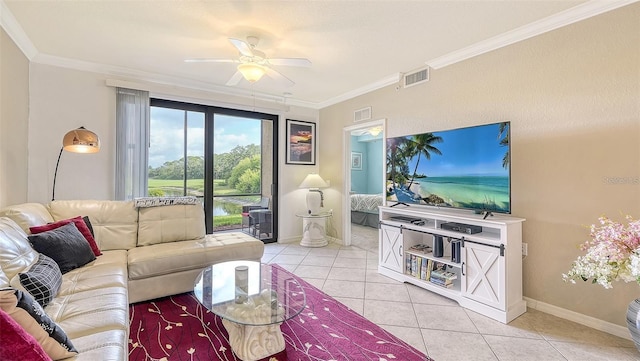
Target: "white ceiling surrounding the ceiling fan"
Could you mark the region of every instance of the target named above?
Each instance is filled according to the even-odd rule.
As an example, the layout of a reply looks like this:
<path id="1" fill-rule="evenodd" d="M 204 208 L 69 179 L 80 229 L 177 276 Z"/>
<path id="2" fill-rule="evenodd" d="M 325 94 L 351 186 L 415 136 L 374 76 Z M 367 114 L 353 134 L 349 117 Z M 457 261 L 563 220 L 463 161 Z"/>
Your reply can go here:
<path id="1" fill-rule="evenodd" d="M 214 92 L 283 97 L 313 108 L 397 82 L 426 64 L 446 66 L 634 2 L 621 1 L 26 1 L 0 0 L 2 26 L 33 62 Z M 296 84 L 264 77 L 225 83 L 229 37 L 261 38 Z M 288 96 L 288 95 L 287 95 Z"/>

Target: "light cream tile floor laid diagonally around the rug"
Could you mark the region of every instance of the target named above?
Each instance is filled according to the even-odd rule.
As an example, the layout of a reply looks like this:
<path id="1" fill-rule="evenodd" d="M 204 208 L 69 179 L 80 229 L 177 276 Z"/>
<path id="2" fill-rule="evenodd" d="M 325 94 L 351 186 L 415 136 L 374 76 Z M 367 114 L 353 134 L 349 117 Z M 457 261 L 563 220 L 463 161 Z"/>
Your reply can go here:
<path id="1" fill-rule="evenodd" d="M 267 244 L 262 261 L 283 266 L 435 361 L 640 360 L 633 342 L 562 318 L 529 309 L 504 325 L 394 281 L 377 272 L 377 241 L 365 235 L 352 243 Z"/>

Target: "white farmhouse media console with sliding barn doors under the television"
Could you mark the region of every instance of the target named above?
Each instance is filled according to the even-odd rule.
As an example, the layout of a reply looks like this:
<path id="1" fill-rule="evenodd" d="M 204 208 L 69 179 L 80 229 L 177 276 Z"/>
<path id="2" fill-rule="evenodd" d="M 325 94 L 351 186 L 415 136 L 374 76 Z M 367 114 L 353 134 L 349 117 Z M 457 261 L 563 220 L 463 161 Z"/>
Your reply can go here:
<path id="1" fill-rule="evenodd" d="M 382 206 L 378 272 L 509 323 L 527 310 L 522 299 L 523 221 L 498 214 L 485 218 L 464 210 Z M 472 234 L 465 232 L 467 225 Z M 436 257 L 436 239 L 443 240 L 441 257 Z M 436 266 L 444 268 L 446 281 L 435 277 L 442 271 L 431 271 L 430 280 L 426 269 Z"/>

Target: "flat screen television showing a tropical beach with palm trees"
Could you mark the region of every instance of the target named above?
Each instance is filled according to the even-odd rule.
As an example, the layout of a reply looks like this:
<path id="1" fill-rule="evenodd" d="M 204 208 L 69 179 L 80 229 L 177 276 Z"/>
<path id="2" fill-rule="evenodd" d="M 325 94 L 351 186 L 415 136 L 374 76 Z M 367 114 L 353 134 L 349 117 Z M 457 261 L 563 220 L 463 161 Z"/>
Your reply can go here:
<path id="1" fill-rule="evenodd" d="M 510 123 L 387 138 L 387 204 L 511 213 Z"/>

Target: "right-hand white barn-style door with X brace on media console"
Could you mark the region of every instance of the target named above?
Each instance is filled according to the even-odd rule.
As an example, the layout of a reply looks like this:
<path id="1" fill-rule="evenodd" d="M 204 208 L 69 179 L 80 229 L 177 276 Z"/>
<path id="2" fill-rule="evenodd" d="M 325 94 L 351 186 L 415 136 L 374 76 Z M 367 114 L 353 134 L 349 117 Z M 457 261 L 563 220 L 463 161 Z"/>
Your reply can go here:
<path id="1" fill-rule="evenodd" d="M 500 249 L 464 242 L 462 296 L 506 311 L 505 257 Z"/>

